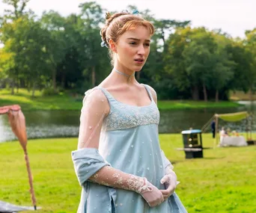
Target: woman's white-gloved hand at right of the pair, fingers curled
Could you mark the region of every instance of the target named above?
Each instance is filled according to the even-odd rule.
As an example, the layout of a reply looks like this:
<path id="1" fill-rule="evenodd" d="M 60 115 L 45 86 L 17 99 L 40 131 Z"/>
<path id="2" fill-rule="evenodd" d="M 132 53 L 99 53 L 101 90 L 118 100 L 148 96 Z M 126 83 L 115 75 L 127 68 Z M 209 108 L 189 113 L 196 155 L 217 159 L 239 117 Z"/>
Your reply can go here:
<path id="1" fill-rule="evenodd" d="M 162 184 L 165 184 L 165 188 L 166 188 L 165 190 L 160 190 L 162 192 L 164 200 L 167 200 L 168 197 L 170 197 L 171 194 L 174 193 L 176 186 L 180 183 L 180 182 L 177 182 L 177 176 L 173 170 L 168 170 L 168 174 L 163 176 L 160 182 Z"/>

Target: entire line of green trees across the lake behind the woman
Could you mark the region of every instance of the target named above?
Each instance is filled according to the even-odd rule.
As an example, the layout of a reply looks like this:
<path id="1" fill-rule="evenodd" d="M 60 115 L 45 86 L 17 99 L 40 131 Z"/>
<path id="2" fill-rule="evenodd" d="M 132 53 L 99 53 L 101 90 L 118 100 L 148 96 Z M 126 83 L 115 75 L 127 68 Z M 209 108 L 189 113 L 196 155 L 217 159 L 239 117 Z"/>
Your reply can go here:
<path id="1" fill-rule="evenodd" d="M 106 13 L 100 4 L 81 3 L 79 13 L 69 16 L 53 10 L 36 16 L 28 1 L 3 0 L 12 9 L 0 17 L 1 88 L 16 93 L 25 87 L 32 96 L 37 89 L 83 93 L 109 75 L 108 49 L 100 46 Z M 228 99 L 230 90 L 254 93 L 256 28 L 241 39 L 221 29 L 192 28 L 189 20 L 156 19 L 150 10 L 140 15 L 153 22 L 156 33 L 136 78 L 154 87 L 159 99 L 218 101 Z"/>

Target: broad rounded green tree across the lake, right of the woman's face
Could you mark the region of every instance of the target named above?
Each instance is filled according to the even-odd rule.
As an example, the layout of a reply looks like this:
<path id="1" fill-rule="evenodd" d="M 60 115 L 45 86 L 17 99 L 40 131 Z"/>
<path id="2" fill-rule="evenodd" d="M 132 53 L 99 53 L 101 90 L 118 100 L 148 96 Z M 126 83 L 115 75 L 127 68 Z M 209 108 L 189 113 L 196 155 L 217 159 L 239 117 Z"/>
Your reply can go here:
<path id="1" fill-rule="evenodd" d="M 165 64 L 176 87 L 180 91 L 190 90 L 192 99 L 200 99 L 202 88 L 205 101 L 208 90 L 216 90 L 218 101 L 219 90 L 232 77 L 228 54 L 205 28 L 177 29 L 169 37 Z"/>

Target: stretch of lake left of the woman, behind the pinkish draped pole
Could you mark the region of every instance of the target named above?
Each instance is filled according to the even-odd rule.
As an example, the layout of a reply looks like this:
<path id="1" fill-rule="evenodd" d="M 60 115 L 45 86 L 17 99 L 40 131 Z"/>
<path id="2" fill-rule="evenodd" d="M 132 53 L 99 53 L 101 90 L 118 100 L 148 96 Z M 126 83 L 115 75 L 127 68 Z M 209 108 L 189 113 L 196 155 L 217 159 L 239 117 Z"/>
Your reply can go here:
<path id="1" fill-rule="evenodd" d="M 23 111 L 28 138 L 76 137 L 80 111 Z M 7 114 L 0 116 L 0 142 L 16 140 Z"/>

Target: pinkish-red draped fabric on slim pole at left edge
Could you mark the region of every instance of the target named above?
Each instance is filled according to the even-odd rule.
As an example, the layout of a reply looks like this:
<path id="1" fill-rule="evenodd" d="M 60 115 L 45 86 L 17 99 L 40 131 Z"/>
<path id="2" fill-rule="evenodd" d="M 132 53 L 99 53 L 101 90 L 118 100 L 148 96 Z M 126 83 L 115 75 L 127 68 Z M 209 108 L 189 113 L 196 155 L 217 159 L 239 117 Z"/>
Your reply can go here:
<path id="1" fill-rule="evenodd" d="M 13 133 L 18 138 L 19 143 L 22 146 L 22 149 L 24 150 L 25 163 L 26 163 L 27 170 L 28 170 L 28 179 L 29 179 L 29 185 L 30 185 L 31 200 L 32 200 L 32 203 L 34 206 L 34 210 L 36 210 L 37 204 L 36 204 L 36 199 L 34 196 L 32 175 L 31 175 L 31 169 L 29 166 L 28 152 L 27 152 L 27 147 L 26 147 L 27 146 L 27 133 L 25 131 L 25 117 L 24 117 L 24 114 L 22 113 L 19 105 L 8 105 L 8 106 L 0 107 L 0 114 L 6 114 L 6 113 L 8 114 L 11 129 L 13 130 Z"/>

